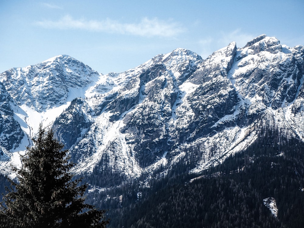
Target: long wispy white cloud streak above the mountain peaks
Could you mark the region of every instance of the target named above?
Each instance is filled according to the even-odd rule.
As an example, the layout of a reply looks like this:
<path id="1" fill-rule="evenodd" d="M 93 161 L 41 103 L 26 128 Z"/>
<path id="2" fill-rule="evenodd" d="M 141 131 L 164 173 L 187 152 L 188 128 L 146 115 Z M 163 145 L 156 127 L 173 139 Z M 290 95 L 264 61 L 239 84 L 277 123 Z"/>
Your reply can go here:
<path id="1" fill-rule="evenodd" d="M 137 36 L 161 36 L 170 37 L 183 33 L 185 29 L 173 21 L 163 21 L 157 18 L 143 18 L 139 23 L 121 23 L 112 19 L 102 21 L 73 19 L 64 16 L 58 21 L 44 20 L 36 22 L 44 28 L 53 29 L 82 29 L 106 33 L 131 34 Z"/>

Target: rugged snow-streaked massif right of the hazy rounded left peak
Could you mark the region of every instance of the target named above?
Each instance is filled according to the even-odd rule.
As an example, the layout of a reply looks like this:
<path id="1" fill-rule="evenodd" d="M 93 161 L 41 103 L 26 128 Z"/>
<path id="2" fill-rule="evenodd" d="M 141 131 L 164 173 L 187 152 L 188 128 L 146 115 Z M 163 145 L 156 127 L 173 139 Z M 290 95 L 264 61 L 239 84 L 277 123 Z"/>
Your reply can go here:
<path id="1" fill-rule="evenodd" d="M 261 126 L 302 138 L 303 74 L 303 47 L 266 35 L 240 49 L 232 42 L 206 60 L 177 49 L 106 75 L 112 90 L 89 88 L 92 98 L 74 100 L 54 127 L 78 171 L 97 165 L 148 177 L 193 159 L 188 168 L 199 172 L 246 148 Z M 73 145 L 67 129 L 77 133 Z"/>

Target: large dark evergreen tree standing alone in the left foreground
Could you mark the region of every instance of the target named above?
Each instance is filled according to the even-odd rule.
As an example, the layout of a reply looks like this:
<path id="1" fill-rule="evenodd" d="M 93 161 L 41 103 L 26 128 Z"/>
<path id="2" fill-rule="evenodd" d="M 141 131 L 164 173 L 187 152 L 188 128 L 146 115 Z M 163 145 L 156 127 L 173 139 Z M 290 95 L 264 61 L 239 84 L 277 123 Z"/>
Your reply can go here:
<path id="1" fill-rule="evenodd" d="M 105 227 L 105 210 L 84 203 L 87 185 L 73 180 L 74 164 L 53 131 L 40 124 L 33 142 L 21 156 L 22 167 L 14 168 L 19 182 L 9 179 L 11 187 L 0 205 L 0 227 Z"/>

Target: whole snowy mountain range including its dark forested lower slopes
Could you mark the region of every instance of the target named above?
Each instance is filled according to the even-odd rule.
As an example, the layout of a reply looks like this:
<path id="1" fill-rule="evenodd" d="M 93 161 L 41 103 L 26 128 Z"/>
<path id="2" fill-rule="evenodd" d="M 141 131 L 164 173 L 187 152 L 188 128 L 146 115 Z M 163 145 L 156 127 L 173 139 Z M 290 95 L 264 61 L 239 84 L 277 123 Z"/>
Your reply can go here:
<path id="1" fill-rule="evenodd" d="M 110 227 L 302 227 L 304 46 L 261 35 L 123 73 L 60 55 L 0 74 L 0 172 L 39 124 Z"/>

